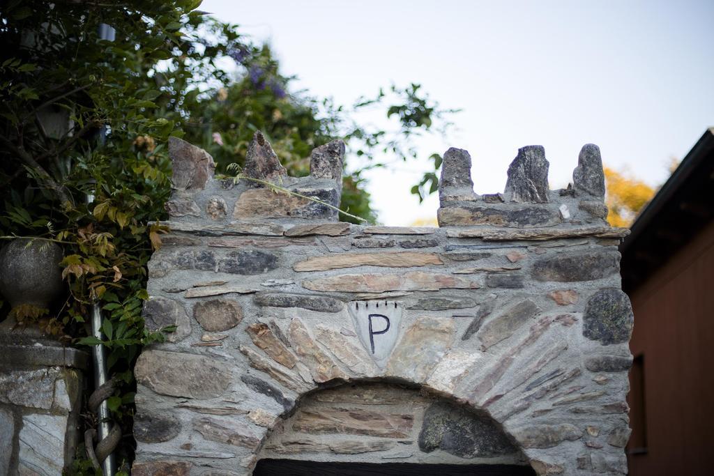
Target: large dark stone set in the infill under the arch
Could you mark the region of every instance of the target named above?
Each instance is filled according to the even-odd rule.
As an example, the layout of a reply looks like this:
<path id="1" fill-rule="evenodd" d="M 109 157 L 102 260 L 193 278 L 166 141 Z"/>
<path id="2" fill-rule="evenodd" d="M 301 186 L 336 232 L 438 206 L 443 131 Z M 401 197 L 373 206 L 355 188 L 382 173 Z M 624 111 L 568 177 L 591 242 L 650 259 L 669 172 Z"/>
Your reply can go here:
<path id="1" fill-rule="evenodd" d="M 423 452 L 443 450 L 465 458 L 518 451 L 491 417 L 445 401 L 427 408 L 418 442 Z"/>

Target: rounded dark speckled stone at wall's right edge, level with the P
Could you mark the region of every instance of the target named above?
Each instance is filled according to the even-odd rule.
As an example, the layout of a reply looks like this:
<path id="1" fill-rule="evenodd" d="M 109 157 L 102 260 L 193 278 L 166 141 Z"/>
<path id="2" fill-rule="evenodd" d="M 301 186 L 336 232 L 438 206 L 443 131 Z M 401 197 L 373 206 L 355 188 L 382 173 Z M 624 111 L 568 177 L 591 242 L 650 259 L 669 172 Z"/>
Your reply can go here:
<path id="1" fill-rule="evenodd" d="M 603 345 L 626 343 L 632 335 L 633 322 L 628 295 L 617 288 L 599 290 L 585 305 L 583 335 Z"/>

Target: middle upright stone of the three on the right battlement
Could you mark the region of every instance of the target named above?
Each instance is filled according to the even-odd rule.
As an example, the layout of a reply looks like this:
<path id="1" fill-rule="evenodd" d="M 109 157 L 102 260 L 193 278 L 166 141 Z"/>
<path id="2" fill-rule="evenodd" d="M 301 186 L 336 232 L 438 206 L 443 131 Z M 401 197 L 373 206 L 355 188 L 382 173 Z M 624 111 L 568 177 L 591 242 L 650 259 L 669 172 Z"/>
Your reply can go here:
<path id="1" fill-rule="evenodd" d="M 508 166 L 506 201 L 521 203 L 548 202 L 548 161 L 543 146 L 526 146 Z"/>

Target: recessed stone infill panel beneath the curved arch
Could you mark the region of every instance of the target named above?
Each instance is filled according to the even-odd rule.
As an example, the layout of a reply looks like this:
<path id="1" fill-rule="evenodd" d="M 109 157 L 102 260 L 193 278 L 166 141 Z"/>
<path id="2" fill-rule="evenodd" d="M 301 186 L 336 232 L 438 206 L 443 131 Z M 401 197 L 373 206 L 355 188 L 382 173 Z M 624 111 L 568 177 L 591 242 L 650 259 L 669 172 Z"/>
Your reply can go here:
<path id="1" fill-rule="evenodd" d="M 485 413 L 384 381 L 306 395 L 268 435 L 258 453 L 263 459 L 470 465 L 472 474 L 483 465 L 523 474 L 527 467 L 526 457 Z"/>

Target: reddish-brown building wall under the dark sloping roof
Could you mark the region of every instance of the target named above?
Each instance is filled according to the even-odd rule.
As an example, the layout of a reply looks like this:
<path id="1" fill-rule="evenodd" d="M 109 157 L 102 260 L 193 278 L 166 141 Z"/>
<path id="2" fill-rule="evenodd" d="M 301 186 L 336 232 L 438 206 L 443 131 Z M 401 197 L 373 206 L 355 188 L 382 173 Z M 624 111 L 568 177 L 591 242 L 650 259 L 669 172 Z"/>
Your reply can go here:
<path id="1" fill-rule="evenodd" d="M 630 348 L 635 358 L 643 355 L 647 446 L 628 457 L 630 475 L 714 474 L 714 223 L 630 298 Z M 630 445 L 643 430 L 635 378 L 631 373 Z"/>

